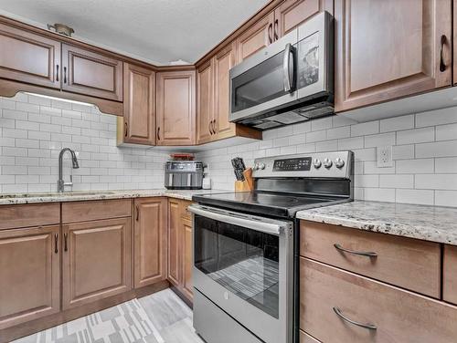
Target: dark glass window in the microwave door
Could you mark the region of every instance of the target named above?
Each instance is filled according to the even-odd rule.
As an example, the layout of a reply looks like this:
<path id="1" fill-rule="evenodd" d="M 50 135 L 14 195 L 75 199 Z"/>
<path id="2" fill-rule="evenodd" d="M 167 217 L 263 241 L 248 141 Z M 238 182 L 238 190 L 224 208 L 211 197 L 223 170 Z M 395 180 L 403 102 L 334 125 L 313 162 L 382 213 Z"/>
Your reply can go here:
<path id="1" fill-rule="evenodd" d="M 232 112 L 253 106 L 287 94 L 284 91 L 284 52 L 263 61 L 232 80 Z"/>

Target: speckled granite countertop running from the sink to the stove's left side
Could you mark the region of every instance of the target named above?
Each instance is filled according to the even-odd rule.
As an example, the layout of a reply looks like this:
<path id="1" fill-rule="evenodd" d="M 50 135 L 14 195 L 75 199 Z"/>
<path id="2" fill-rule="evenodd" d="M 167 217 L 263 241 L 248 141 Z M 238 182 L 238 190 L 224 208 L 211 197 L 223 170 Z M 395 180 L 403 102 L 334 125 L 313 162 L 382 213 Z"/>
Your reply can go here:
<path id="1" fill-rule="evenodd" d="M 94 192 L 48 192 L 28 194 L 0 194 L 0 205 L 20 203 L 67 203 L 103 199 L 129 199 L 166 196 L 170 198 L 192 200 L 194 194 L 229 192 L 220 190 L 171 191 L 129 190 L 129 191 L 94 191 Z"/>

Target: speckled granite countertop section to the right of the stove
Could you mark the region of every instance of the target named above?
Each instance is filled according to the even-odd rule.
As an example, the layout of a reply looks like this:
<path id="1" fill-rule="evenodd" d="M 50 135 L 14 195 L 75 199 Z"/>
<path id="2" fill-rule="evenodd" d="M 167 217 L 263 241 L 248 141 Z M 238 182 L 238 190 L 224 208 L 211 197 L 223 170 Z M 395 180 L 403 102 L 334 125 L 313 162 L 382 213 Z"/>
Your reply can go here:
<path id="1" fill-rule="evenodd" d="M 355 201 L 300 211 L 296 216 L 312 222 L 457 245 L 457 208 L 452 207 Z"/>

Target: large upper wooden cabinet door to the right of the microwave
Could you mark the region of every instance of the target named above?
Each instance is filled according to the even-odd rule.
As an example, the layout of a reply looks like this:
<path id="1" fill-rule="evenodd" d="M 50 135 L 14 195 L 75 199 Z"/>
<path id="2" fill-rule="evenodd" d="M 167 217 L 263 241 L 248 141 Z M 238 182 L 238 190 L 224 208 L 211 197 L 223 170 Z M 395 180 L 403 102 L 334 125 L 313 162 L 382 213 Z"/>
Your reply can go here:
<path id="1" fill-rule="evenodd" d="M 451 0 L 335 0 L 335 111 L 450 86 L 451 8 Z"/>

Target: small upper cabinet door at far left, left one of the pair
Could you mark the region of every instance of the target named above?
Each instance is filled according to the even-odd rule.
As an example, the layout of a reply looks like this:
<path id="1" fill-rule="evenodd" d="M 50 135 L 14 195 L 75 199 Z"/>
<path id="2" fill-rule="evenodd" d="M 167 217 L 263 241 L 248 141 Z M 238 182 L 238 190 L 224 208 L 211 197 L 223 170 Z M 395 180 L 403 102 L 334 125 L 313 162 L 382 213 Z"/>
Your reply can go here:
<path id="1" fill-rule="evenodd" d="M 60 88 L 60 42 L 0 24 L 0 78 Z"/>

